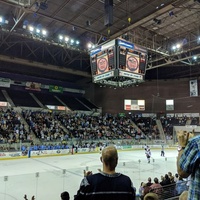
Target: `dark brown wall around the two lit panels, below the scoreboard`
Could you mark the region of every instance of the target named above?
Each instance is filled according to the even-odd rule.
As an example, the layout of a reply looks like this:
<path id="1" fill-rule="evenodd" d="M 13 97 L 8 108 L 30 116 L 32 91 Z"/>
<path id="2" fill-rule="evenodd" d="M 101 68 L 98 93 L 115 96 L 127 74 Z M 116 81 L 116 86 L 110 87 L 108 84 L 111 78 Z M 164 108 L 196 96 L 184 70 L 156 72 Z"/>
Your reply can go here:
<path id="1" fill-rule="evenodd" d="M 189 81 L 146 80 L 139 86 L 117 89 L 91 84 L 86 97 L 101 107 L 103 113 L 199 113 L 200 97 L 190 97 Z M 125 111 L 124 99 L 145 100 L 145 111 Z M 174 99 L 174 110 L 166 110 L 167 99 Z"/>

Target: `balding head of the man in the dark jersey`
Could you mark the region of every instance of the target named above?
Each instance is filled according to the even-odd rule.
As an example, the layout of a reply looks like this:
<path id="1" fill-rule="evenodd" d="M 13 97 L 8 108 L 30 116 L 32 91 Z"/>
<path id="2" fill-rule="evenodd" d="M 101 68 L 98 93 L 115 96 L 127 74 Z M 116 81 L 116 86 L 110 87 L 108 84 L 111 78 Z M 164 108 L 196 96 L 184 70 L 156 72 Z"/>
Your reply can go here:
<path id="1" fill-rule="evenodd" d="M 118 162 L 117 149 L 114 146 L 107 146 L 102 150 L 101 161 L 109 168 L 114 170 Z"/>

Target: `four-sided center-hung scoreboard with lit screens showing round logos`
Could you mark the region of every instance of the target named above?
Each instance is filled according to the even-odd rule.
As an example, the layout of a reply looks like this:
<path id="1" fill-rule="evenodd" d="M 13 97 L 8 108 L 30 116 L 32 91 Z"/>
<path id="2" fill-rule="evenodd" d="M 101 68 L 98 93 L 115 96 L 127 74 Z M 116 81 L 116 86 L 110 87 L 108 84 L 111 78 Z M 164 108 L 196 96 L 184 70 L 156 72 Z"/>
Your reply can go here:
<path id="1" fill-rule="evenodd" d="M 123 87 L 144 81 L 147 50 L 123 39 L 111 40 L 90 51 L 94 83 Z"/>

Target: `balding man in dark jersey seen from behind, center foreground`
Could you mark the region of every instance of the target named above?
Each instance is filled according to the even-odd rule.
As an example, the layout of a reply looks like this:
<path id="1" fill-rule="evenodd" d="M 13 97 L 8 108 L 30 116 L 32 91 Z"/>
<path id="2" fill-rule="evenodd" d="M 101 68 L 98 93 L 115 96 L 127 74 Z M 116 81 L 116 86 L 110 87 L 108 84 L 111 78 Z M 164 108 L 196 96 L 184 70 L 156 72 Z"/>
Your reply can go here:
<path id="1" fill-rule="evenodd" d="M 131 179 L 115 172 L 118 163 L 117 149 L 114 146 L 104 148 L 100 160 L 103 170 L 96 174 L 85 174 L 74 200 L 135 200 L 135 188 Z"/>

